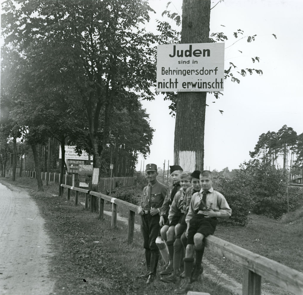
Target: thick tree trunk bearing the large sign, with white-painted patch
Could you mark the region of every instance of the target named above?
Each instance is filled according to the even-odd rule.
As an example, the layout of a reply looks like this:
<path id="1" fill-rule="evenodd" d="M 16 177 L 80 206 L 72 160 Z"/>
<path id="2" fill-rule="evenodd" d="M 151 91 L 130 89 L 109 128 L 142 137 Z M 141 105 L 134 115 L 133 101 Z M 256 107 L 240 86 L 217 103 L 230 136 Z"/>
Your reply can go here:
<path id="1" fill-rule="evenodd" d="M 208 43 L 210 0 L 183 0 L 181 43 Z M 178 92 L 174 164 L 203 170 L 207 92 Z"/>

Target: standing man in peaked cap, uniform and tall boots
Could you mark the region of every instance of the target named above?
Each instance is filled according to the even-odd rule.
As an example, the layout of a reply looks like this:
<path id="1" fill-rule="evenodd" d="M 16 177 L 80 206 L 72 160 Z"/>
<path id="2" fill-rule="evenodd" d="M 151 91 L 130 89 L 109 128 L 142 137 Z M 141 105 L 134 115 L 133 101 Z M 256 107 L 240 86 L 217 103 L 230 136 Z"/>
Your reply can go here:
<path id="1" fill-rule="evenodd" d="M 160 230 L 160 209 L 167 194 L 167 186 L 157 180 L 157 165 L 147 164 L 145 169 L 148 185 L 144 187 L 138 214 L 141 215 L 141 232 L 147 273 L 141 277 L 147 278 L 150 284 L 156 275 L 159 260 L 159 250 L 155 243 Z"/>

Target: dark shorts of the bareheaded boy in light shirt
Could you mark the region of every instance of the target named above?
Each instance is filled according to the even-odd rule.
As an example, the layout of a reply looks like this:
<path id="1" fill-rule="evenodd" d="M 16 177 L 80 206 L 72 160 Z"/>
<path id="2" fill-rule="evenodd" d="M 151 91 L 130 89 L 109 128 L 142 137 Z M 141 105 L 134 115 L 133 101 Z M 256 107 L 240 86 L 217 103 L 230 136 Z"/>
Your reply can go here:
<path id="1" fill-rule="evenodd" d="M 213 235 L 218 224 L 215 217 L 205 218 L 202 214 L 195 214 L 189 221 L 187 244 L 194 244 L 194 235 L 198 232 L 205 237 Z"/>

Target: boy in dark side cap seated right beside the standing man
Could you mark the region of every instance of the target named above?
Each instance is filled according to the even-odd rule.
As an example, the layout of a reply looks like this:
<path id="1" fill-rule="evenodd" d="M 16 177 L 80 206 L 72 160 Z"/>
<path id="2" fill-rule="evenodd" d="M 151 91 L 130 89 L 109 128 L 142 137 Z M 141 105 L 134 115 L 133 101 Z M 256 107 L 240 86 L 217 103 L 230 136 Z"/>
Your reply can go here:
<path id="1" fill-rule="evenodd" d="M 159 236 L 162 237 L 162 240 L 167 241 L 166 237 L 166 232 L 169 228 L 169 220 L 168 220 L 168 212 L 169 208 L 171 206 L 171 203 L 175 197 L 175 194 L 178 192 L 178 190 L 181 188 L 180 186 L 180 176 L 181 173 L 183 172 L 183 169 L 179 165 L 173 165 L 169 166 L 170 167 L 170 175 L 172 179 L 172 185 L 169 187 L 167 195 L 165 196 L 165 200 L 163 202 L 163 205 L 161 207 L 161 212 L 160 212 L 160 234 Z M 157 246 L 161 246 L 160 243 L 157 243 Z M 170 274 L 172 271 L 172 265 L 166 270 L 166 268 L 169 267 L 169 261 L 168 265 L 165 267 L 165 270 L 162 271 L 160 274 Z M 170 272 L 169 272 L 170 271 Z M 168 272 L 168 273 L 167 273 Z"/>

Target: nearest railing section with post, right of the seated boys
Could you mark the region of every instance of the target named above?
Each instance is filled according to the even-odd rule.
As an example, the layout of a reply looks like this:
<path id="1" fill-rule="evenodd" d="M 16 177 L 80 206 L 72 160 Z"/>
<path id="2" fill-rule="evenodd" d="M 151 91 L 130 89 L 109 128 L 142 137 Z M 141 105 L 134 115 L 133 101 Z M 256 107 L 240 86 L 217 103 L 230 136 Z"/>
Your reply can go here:
<path id="1" fill-rule="evenodd" d="M 260 288 L 256 286 L 261 285 L 261 278 L 258 276 L 277 284 L 289 292 L 298 295 L 303 294 L 303 273 L 213 235 L 208 236 L 205 240 L 206 247 L 210 248 L 211 251 L 245 268 L 246 274 L 244 273 L 243 277 L 243 289 L 245 286 L 246 290 L 242 291 L 243 295 L 261 294 L 258 291 L 261 290 L 261 286 Z M 255 274 L 258 276 L 255 276 Z M 255 292 L 251 293 L 251 290 L 255 290 Z"/>

